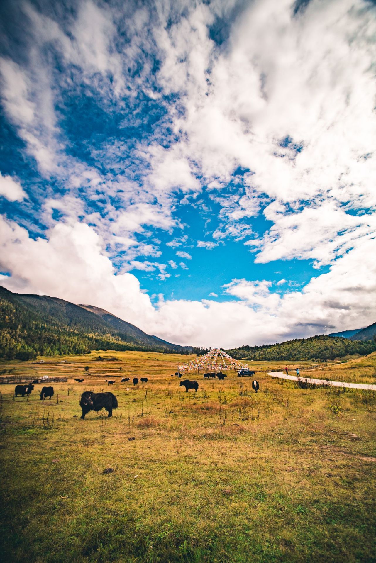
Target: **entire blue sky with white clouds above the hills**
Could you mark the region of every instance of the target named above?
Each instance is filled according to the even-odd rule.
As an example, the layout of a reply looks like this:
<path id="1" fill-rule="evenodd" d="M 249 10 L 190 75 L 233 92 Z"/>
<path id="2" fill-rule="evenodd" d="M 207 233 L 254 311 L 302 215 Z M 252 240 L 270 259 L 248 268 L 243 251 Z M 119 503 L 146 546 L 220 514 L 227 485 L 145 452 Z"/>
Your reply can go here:
<path id="1" fill-rule="evenodd" d="M 376 321 L 376 3 L 3 0 L 0 284 L 181 345 Z"/>

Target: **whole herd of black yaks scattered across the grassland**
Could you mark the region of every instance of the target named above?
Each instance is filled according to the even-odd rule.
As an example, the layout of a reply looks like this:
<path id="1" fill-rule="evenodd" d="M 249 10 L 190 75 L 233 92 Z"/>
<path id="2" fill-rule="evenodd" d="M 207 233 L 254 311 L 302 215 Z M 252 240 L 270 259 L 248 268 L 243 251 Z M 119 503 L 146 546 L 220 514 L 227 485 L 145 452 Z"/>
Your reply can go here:
<path id="1" fill-rule="evenodd" d="M 175 375 L 178 377 L 182 376 L 182 374 L 178 372 L 176 372 Z M 223 379 L 227 377 L 226 374 L 223 374 L 222 372 L 217 374 L 204 373 L 204 379 L 214 378 L 216 376 L 221 381 L 223 381 Z M 74 381 L 77 381 L 78 383 L 82 383 L 83 379 L 76 378 L 74 379 Z M 106 379 L 105 381 L 108 383 L 108 385 L 113 385 L 115 383 L 113 379 Z M 120 383 L 127 381 L 131 381 L 131 378 L 123 377 Z M 148 379 L 147 377 L 141 377 L 140 381 L 142 383 L 147 383 Z M 16 397 L 18 395 L 21 395 L 22 397 L 24 397 L 25 395 L 29 396 L 34 389 L 33 383 L 38 383 L 37 379 L 34 379 L 32 383 L 28 383 L 26 385 L 16 385 L 15 396 Z M 133 377 L 133 385 L 138 385 L 138 377 Z M 180 387 L 185 387 L 186 392 L 188 392 L 190 389 L 194 389 L 195 392 L 197 392 L 199 388 L 199 384 L 197 381 L 190 381 L 190 379 L 184 379 L 183 381 L 180 382 Z M 257 393 L 259 389 L 259 385 L 256 379 L 252 382 L 252 387 L 254 391 L 256 391 Z M 42 391 L 39 391 L 39 396 L 41 400 L 47 399 L 47 397 L 51 400 L 51 397 L 53 396 L 53 387 L 51 386 L 42 387 Z M 82 415 L 81 415 L 82 419 L 84 419 L 85 415 L 91 410 L 95 410 L 96 412 L 98 412 L 101 409 L 105 409 L 108 412 L 108 418 L 110 418 L 112 416 L 113 409 L 118 408 L 118 400 L 115 397 L 115 395 L 110 392 L 95 393 L 94 391 L 84 391 L 83 394 L 80 396 L 79 405 L 82 409 Z"/>

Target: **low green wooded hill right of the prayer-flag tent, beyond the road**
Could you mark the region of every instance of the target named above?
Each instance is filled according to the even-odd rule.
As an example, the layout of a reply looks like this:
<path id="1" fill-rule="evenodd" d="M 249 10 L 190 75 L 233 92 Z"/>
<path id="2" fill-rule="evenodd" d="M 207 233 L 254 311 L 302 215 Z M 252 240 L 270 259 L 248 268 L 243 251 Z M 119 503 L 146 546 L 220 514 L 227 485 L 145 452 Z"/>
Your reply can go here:
<path id="1" fill-rule="evenodd" d="M 376 342 L 361 342 L 349 338 L 332 336 L 313 336 L 298 338 L 279 344 L 263 346 L 241 346 L 234 350 L 226 350 L 233 358 L 247 360 L 334 360 L 347 355 L 360 354 L 365 356 L 376 350 Z"/>

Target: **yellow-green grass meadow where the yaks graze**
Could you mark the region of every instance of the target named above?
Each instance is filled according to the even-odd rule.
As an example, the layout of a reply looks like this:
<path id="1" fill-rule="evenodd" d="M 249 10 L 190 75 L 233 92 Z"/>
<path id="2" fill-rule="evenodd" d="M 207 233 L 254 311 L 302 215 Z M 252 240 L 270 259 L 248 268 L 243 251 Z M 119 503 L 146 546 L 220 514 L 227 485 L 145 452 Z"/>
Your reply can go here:
<path id="1" fill-rule="evenodd" d="M 98 355 L 0 365 L 68 377 L 44 402 L 40 384 L 29 400 L 0 386 L 3 561 L 376 561 L 376 393 L 265 372 L 257 394 L 234 373 L 192 374 L 199 391 L 186 393 L 171 377 L 183 356 Z M 376 354 L 311 373 L 336 370 L 374 383 Z M 133 376 L 149 381 L 120 384 Z M 82 421 L 84 390 L 117 395 L 114 416 Z"/>

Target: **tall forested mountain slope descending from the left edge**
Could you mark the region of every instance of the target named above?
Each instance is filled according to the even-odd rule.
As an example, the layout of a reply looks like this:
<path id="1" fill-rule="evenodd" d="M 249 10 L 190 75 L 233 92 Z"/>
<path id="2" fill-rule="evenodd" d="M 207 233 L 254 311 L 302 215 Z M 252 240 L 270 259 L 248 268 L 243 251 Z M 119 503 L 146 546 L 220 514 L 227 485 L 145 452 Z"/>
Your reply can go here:
<path id="1" fill-rule="evenodd" d="M 0 358 L 25 360 L 108 349 L 200 352 L 160 341 L 107 311 L 100 310 L 102 316 L 89 309 L 0 286 Z"/>

